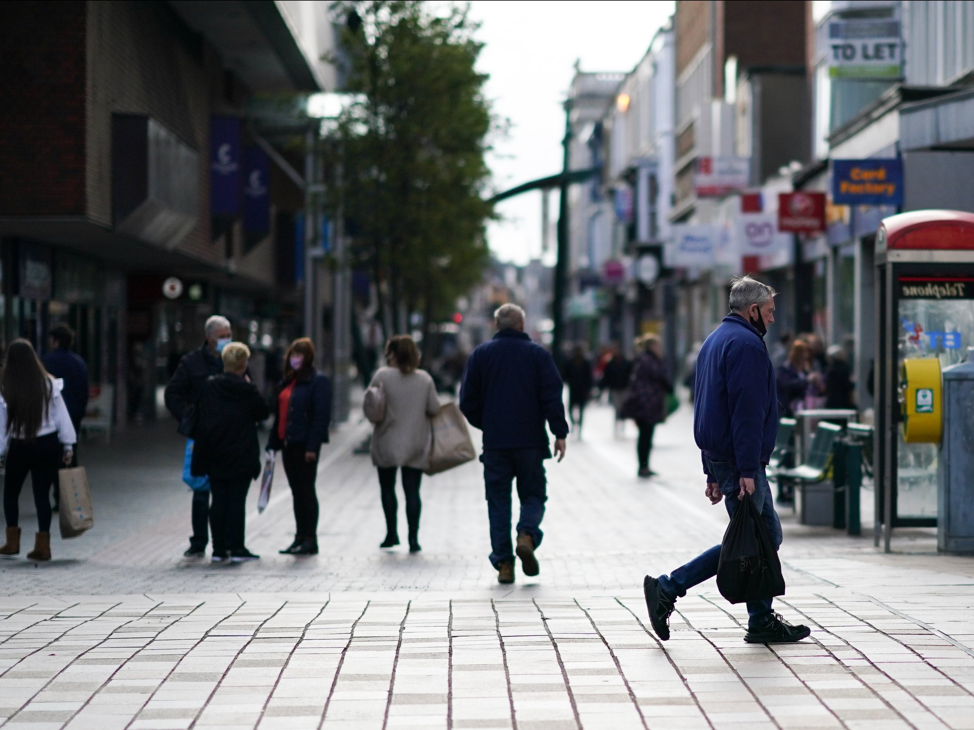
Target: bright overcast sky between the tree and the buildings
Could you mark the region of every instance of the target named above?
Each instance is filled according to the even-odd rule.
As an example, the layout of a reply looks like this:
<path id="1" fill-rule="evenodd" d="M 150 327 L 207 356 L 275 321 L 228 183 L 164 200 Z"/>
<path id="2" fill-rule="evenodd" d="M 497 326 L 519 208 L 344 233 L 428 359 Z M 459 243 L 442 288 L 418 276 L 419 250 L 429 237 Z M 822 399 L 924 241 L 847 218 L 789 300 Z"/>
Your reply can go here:
<path id="1" fill-rule="evenodd" d="M 495 113 L 511 123 L 489 158 L 499 190 L 561 170 L 561 102 L 576 59 L 582 71 L 631 71 L 675 7 L 669 0 L 473 0 L 470 5 L 472 17 L 482 22 L 478 36 L 486 47 L 479 68 L 490 74 L 487 95 Z M 820 17 L 829 3 L 814 5 Z M 489 226 L 488 240 L 499 259 L 525 264 L 541 255 L 541 206 L 540 192 L 498 205 L 504 220 Z M 556 195 L 551 206 L 553 220 Z"/>

